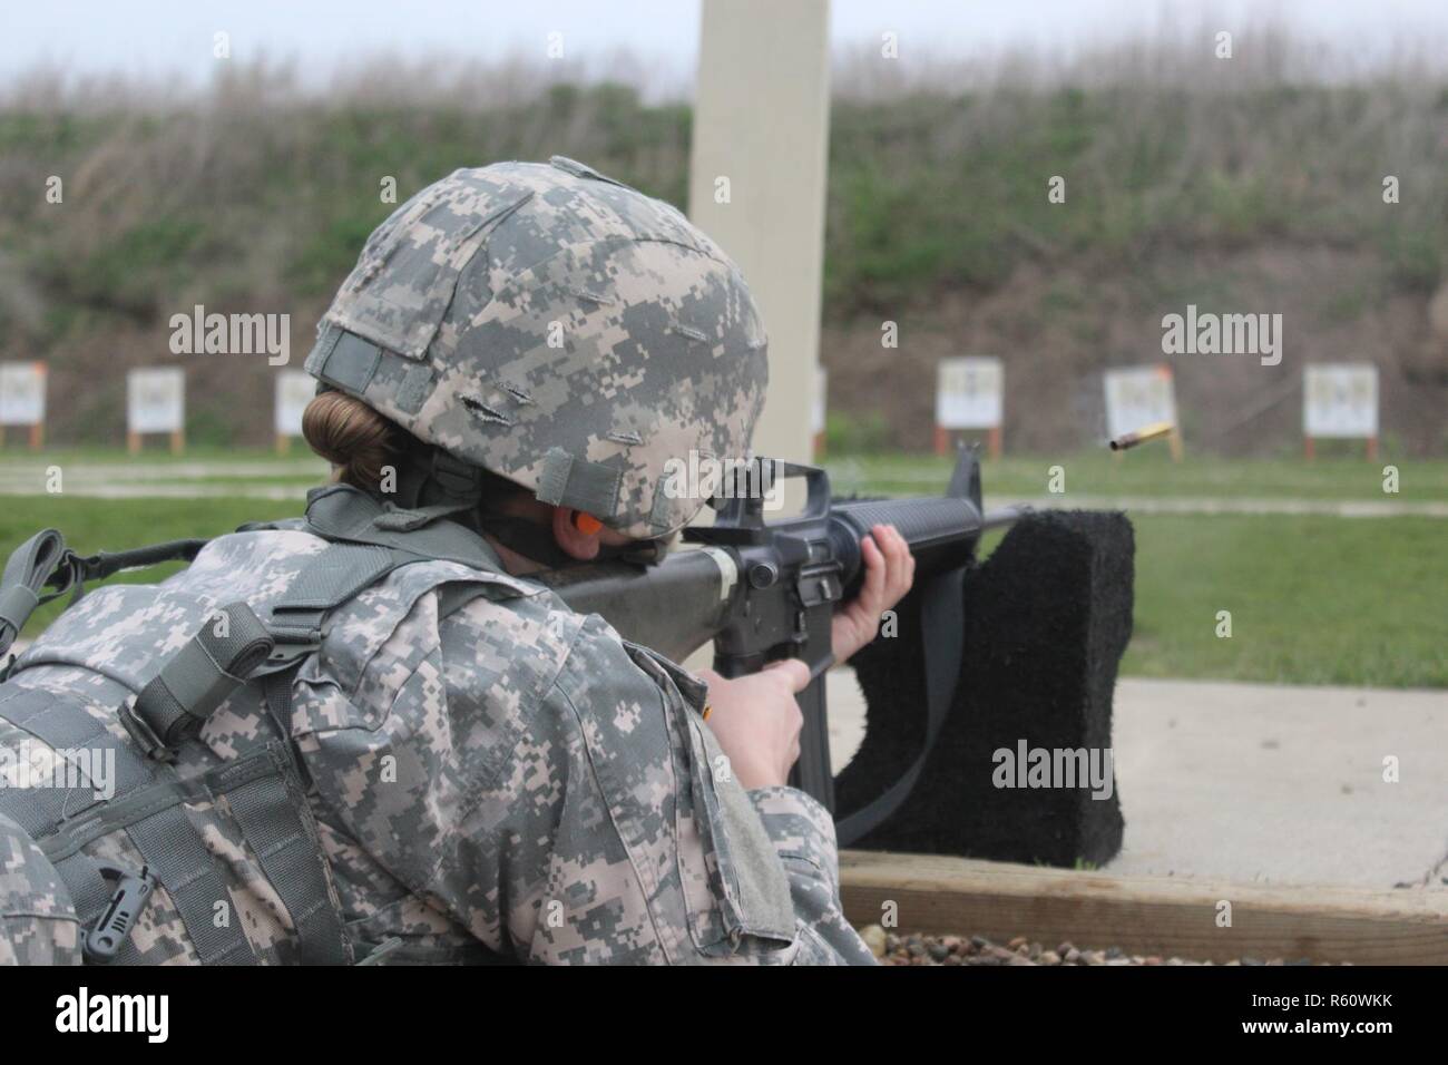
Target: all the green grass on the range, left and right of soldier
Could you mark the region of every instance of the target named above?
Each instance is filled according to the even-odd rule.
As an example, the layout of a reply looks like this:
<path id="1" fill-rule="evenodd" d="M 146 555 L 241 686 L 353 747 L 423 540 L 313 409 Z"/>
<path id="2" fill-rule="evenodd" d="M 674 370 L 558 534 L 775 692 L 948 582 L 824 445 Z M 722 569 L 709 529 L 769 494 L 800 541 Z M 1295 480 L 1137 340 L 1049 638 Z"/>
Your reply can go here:
<path id="1" fill-rule="evenodd" d="M 261 458 L 261 456 L 258 456 Z M 1032 494 L 1044 459 L 992 464 L 1001 494 Z M 1074 462 L 1074 461 L 1069 461 Z M 1365 464 L 1361 464 L 1365 465 Z M 937 468 L 938 467 L 938 471 Z M 944 462 L 869 462 L 862 490 L 880 493 L 909 475 L 904 494 L 933 491 L 919 480 L 946 477 Z M 1074 464 L 1069 469 L 1077 471 Z M 1405 464 L 1422 494 L 1444 498 L 1448 464 Z M 914 472 L 912 472 L 914 471 Z M 1235 472 L 1234 472 L 1235 471 Z M 1072 490 L 1122 494 L 1247 494 L 1292 490 L 1319 498 L 1383 498 L 1358 464 L 1225 462 L 1115 467 L 1082 459 Z M 1231 477 L 1228 477 L 1231 474 Z M 1167 491 L 1163 491 L 1167 488 Z M 1034 490 L 1035 494 L 1040 490 Z M 1387 497 L 1394 498 L 1394 497 Z M 0 507 L 0 549 L 42 526 L 61 529 L 83 554 L 184 536 L 214 536 L 242 522 L 300 513 L 300 501 L 94 500 L 12 496 Z M 1070 496 L 1063 498 L 1070 506 Z M 1122 662 L 1134 677 L 1183 677 L 1283 684 L 1448 687 L 1448 522 L 1431 517 L 1137 514 L 1135 633 Z M 986 548 L 999 542 L 992 533 Z M 130 574 L 161 580 L 177 567 Z M 29 633 L 56 613 L 36 614 Z M 1231 639 L 1216 636 L 1216 613 L 1232 614 Z"/>

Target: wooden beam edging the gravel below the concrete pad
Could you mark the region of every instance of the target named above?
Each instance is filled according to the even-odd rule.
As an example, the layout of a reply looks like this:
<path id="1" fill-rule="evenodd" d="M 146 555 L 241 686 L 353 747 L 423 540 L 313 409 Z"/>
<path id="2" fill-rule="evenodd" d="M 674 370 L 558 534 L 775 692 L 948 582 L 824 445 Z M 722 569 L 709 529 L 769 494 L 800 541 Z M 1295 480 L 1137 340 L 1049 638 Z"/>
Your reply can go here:
<path id="1" fill-rule="evenodd" d="M 1047 948 L 1119 946 L 1134 955 L 1225 962 L 1281 958 L 1357 965 L 1448 964 L 1448 893 L 1226 884 L 1011 865 L 938 855 L 844 851 L 844 913 L 898 930 L 1027 936 Z M 1231 903 L 1231 926 L 1218 924 Z"/>

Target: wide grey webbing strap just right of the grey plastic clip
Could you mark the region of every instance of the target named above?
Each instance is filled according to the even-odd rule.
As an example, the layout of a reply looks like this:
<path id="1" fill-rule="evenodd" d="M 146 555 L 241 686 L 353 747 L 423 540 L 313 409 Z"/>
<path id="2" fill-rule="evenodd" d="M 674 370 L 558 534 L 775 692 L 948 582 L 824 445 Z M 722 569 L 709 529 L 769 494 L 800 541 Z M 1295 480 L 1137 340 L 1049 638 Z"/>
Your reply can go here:
<path id="1" fill-rule="evenodd" d="M 242 932 L 240 914 L 181 804 L 127 826 L 126 835 L 171 895 L 201 964 L 253 965 L 256 956 Z M 217 907 L 219 901 L 224 909 Z"/>

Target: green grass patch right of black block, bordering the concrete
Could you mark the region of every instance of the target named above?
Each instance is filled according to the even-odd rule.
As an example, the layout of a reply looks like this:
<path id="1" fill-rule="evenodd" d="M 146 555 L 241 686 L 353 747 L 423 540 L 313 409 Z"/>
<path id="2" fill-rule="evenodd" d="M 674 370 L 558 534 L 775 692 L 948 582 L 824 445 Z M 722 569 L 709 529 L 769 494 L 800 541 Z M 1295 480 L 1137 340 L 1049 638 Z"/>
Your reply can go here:
<path id="1" fill-rule="evenodd" d="M 1122 674 L 1448 687 L 1448 523 L 1140 516 Z M 1229 610 L 1231 639 L 1216 636 Z"/>

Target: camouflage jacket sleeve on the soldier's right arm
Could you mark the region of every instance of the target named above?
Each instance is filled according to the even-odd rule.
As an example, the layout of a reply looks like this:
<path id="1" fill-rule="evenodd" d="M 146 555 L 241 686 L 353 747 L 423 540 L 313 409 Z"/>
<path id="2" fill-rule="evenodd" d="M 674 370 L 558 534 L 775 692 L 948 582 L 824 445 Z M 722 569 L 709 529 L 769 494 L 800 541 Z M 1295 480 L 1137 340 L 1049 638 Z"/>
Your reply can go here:
<path id="1" fill-rule="evenodd" d="M 475 620 L 445 636 L 446 672 L 468 672 Z M 530 962 L 872 964 L 840 909 L 822 807 L 746 793 L 679 667 L 597 616 L 550 625 L 575 627 L 534 704 L 449 693 L 459 720 L 511 720 L 439 849 L 433 890 L 455 919 Z"/>

